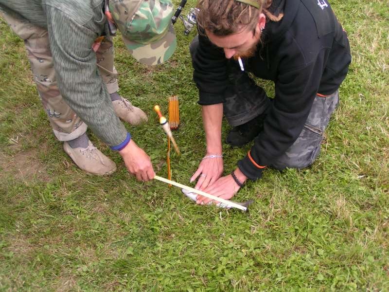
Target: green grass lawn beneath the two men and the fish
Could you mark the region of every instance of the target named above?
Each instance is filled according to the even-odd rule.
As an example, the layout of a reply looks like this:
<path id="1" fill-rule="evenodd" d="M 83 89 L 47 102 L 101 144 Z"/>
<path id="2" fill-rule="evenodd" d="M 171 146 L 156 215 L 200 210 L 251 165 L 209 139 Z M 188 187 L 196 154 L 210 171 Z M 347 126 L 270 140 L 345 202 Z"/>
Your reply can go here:
<path id="1" fill-rule="evenodd" d="M 90 132 L 118 170 L 80 171 L 54 139 L 23 42 L 0 20 L 0 291 L 389 291 L 388 3 L 331 3 L 353 54 L 340 107 L 312 167 L 266 170 L 239 191 L 236 201 L 255 199 L 249 213 L 137 182 Z M 189 183 L 205 139 L 194 32 L 184 36 L 178 22 L 176 30 L 177 53 L 151 70 L 116 38 L 116 67 L 120 93 L 151 117 L 127 127 L 161 176 L 166 139 L 152 108 L 166 113 L 178 95 L 183 154 L 173 154 L 173 178 Z M 224 145 L 226 173 L 247 150 Z"/>

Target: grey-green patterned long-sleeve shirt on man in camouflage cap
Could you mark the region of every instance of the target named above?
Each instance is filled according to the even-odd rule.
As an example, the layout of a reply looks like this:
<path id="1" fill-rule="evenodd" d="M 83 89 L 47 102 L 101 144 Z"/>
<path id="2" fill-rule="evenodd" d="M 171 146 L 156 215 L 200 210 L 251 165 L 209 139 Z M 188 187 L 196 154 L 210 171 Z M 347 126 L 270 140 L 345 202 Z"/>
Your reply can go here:
<path id="1" fill-rule="evenodd" d="M 47 29 L 59 91 L 69 107 L 109 146 L 127 135 L 96 65 L 92 44 L 106 32 L 104 0 L 0 0 L 5 13 Z"/>

